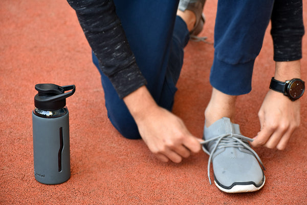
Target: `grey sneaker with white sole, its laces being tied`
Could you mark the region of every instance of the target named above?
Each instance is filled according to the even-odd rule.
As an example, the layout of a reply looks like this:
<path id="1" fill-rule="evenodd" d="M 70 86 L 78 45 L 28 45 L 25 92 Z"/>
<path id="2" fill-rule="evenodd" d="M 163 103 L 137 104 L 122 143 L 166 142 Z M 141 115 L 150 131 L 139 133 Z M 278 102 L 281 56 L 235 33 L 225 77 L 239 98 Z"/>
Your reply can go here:
<path id="1" fill-rule="evenodd" d="M 218 189 L 227 193 L 253 192 L 265 185 L 265 170 L 259 156 L 250 147 L 248 137 L 240 133 L 239 125 L 232 124 L 223 117 L 209 128 L 204 128 L 203 150 L 210 155 L 208 177 L 210 180 L 210 163 L 213 164 L 214 183 Z M 259 161 L 259 163 L 258 163 Z"/>

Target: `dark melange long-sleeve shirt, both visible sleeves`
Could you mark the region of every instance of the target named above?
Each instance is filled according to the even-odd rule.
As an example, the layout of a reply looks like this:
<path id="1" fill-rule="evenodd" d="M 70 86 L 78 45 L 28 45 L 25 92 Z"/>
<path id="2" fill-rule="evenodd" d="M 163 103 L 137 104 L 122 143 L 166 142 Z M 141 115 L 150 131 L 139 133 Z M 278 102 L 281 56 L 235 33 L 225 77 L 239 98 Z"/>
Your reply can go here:
<path id="1" fill-rule="evenodd" d="M 146 84 L 130 50 L 112 0 L 68 0 L 102 72 L 111 80 L 120 98 Z M 301 0 L 275 0 L 271 34 L 274 60 L 301 58 L 304 34 Z"/>

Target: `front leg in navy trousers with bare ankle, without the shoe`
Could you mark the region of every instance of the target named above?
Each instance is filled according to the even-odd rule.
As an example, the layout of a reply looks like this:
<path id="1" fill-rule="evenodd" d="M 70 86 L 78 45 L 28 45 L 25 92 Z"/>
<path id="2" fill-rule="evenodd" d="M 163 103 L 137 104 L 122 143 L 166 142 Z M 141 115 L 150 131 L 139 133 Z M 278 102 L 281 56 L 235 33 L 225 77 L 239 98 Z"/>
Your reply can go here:
<path id="1" fill-rule="evenodd" d="M 236 95 L 251 91 L 254 60 L 262 46 L 273 2 L 218 1 L 210 73 L 213 91 L 205 111 L 206 126 L 222 117 L 233 120 Z"/>

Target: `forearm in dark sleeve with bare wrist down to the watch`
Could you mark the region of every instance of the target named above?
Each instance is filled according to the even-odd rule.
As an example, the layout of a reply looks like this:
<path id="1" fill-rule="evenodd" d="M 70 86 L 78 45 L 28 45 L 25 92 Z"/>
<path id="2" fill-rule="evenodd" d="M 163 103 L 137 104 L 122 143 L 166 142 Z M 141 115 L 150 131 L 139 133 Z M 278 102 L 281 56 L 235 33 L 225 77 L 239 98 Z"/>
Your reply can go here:
<path id="1" fill-rule="evenodd" d="M 276 61 L 274 78 L 279 81 L 300 78 L 304 34 L 302 0 L 276 0 L 271 20 Z"/>

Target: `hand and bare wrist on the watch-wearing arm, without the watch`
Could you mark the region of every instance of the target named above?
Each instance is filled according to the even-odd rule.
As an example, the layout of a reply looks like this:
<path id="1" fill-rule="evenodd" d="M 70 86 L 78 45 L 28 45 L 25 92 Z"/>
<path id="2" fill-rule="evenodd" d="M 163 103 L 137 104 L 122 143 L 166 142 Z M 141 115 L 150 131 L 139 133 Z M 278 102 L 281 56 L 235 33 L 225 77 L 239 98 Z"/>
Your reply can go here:
<path id="1" fill-rule="evenodd" d="M 300 62 L 276 62 L 275 79 L 280 81 L 300 77 Z M 269 90 L 258 112 L 260 132 L 251 145 L 283 150 L 300 124 L 300 99 L 291 101 L 282 93 Z"/>

